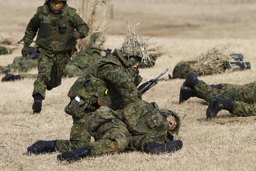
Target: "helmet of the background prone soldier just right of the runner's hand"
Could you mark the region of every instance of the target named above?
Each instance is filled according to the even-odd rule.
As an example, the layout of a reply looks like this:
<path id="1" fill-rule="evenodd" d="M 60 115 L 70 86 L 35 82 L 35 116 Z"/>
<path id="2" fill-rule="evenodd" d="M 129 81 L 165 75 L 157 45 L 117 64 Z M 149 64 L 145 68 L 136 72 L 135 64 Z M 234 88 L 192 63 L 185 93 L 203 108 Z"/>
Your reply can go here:
<path id="1" fill-rule="evenodd" d="M 105 36 L 103 32 L 94 32 L 90 36 L 90 42 L 88 44 L 88 47 L 92 48 L 103 48 L 103 45 L 105 43 Z"/>

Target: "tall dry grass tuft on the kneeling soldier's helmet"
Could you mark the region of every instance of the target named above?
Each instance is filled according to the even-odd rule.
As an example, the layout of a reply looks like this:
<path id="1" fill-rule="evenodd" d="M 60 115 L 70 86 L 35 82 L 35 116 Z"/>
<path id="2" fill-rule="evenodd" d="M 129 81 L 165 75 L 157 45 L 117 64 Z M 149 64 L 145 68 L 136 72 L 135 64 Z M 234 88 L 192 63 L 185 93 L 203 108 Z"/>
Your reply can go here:
<path id="1" fill-rule="evenodd" d="M 142 58 L 142 62 L 147 64 L 151 61 L 148 55 L 148 40 L 143 38 L 140 33 L 135 30 L 135 27 L 127 27 L 124 33 L 124 41 L 122 42 L 121 51 L 124 56 L 139 56 Z"/>

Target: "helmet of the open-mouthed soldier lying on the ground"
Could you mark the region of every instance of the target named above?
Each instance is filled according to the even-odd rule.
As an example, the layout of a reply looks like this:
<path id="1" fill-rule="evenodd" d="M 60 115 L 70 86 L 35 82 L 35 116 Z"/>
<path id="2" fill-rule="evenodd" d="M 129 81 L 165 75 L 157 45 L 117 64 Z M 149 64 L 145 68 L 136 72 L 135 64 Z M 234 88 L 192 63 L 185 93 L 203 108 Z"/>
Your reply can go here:
<path id="1" fill-rule="evenodd" d="M 175 129 L 170 131 L 172 134 L 178 133 L 180 126 L 181 126 L 181 120 L 180 117 L 178 116 L 178 113 L 171 111 L 171 110 L 166 110 L 166 109 L 161 109 L 160 110 L 161 115 L 164 116 L 166 119 L 170 117 L 170 122 L 175 126 Z"/>

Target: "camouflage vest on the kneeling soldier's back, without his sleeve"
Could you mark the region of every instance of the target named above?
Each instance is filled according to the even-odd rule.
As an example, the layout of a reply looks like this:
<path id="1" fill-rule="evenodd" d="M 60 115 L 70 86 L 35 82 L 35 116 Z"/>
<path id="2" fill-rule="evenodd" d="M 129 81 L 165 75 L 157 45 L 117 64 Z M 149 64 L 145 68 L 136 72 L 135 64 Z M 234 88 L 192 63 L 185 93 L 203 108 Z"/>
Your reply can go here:
<path id="1" fill-rule="evenodd" d="M 111 108 L 117 109 L 121 104 L 122 96 L 115 89 L 113 85 L 106 82 L 104 78 L 97 77 L 98 70 L 101 66 L 104 65 L 115 65 L 123 69 L 124 72 L 132 76 L 131 71 L 128 68 L 125 68 L 123 64 L 114 56 L 112 58 L 105 58 L 97 61 L 93 65 L 91 65 L 83 74 L 83 76 L 79 77 L 70 88 L 68 92 L 68 97 L 71 99 L 75 96 L 80 96 L 83 99 L 92 99 L 92 103 L 97 103 L 97 99 L 99 98 L 108 98 L 104 97 L 103 92 L 108 90 L 109 98 L 111 101 Z M 115 100 L 111 100 L 115 99 Z M 116 100 L 118 99 L 118 100 Z M 113 102 L 113 103 L 112 103 Z"/>

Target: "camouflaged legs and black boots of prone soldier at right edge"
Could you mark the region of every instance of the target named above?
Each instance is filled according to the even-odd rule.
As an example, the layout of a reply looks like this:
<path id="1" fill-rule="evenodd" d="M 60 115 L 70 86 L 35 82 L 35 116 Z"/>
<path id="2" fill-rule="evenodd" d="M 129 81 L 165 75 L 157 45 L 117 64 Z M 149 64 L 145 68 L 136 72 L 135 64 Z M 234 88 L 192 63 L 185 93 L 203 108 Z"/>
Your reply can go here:
<path id="1" fill-rule="evenodd" d="M 242 117 L 256 116 L 256 81 L 244 86 L 223 83 L 208 86 L 194 72 L 189 72 L 181 87 L 180 103 L 190 97 L 210 103 L 207 118 L 214 118 L 222 109 Z"/>

